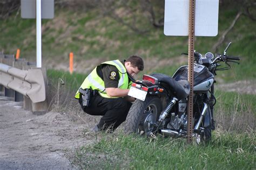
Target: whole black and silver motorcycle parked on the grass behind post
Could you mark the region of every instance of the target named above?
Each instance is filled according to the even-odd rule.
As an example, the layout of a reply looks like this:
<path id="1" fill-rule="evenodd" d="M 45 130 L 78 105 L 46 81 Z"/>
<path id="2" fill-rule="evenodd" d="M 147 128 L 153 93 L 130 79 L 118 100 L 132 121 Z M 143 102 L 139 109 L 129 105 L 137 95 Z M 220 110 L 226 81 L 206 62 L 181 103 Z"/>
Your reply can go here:
<path id="1" fill-rule="evenodd" d="M 193 133 L 196 142 L 211 140 L 215 129 L 213 110 L 215 75 L 219 70 L 230 69 L 230 62 L 238 63 L 240 57 L 228 56 L 227 45 L 223 54 L 207 52 L 204 57 L 194 52 L 194 87 L 193 87 Z M 185 53 L 181 53 L 185 54 Z M 187 54 L 186 54 L 187 55 Z M 225 67 L 220 63 L 224 62 Z M 132 104 L 124 125 L 125 133 L 165 137 L 187 136 L 187 97 L 190 83 L 187 81 L 188 66 L 181 66 L 171 77 L 154 73 L 143 75 L 142 80 L 132 83 L 129 96 L 137 98 Z"/>

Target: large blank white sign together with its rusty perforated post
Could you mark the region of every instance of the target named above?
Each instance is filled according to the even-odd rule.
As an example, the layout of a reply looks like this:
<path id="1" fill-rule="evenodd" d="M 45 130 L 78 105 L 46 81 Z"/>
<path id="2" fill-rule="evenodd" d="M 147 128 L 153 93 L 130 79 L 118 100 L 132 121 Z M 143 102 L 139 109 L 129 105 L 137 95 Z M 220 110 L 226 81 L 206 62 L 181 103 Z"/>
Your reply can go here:
<path id="1" fill-rule="evenodd" d="M 196 3 L 197 1 L 197 3 Z M 193 134 L 194 37 L 217 36 L 219 0 L 165 0 L 164 34 L 188 36 L 187 142 Z"/>

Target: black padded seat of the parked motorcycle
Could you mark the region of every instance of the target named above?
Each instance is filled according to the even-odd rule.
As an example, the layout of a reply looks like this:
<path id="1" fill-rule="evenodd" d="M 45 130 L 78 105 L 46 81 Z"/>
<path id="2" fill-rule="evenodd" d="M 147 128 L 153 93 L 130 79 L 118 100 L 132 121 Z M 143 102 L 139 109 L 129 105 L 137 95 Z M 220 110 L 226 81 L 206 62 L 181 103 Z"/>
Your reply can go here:
<path id="1" fill-rule="evenodd" d="M 186 98 L 190 94 L 190 83 L 187 80 L 176 81 L 172 77 L 161 73 L 153 73 L 151 76 L 156 77 L 159 83 L 167 84 L 178 100 Z"/>

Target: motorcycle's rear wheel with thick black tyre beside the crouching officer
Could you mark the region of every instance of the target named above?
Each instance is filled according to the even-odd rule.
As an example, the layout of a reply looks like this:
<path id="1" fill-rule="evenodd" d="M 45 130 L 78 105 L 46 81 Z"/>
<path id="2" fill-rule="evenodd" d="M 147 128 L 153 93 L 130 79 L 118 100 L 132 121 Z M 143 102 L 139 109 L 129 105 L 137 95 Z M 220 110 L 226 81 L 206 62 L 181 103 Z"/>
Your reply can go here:
<path id="1" fill-rule="evenodd" d="M 162 110 L 161 100 L 158 96 L 147 96 L 145 101 L 136 100 L 126 117 L 124 132 L 145 134 L 145 119 L 155 122 Z"/>

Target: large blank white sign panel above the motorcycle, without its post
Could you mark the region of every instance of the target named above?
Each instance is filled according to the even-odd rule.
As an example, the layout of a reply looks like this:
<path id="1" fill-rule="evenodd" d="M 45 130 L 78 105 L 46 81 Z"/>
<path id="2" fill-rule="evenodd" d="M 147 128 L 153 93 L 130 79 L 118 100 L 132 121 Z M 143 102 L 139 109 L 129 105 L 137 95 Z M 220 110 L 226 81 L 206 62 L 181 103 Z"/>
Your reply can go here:
<path id="1" fill-rule="evenodd" d="M 188 36 L 190 0 L 165 0 L 164 34 Z M 195 36 L 217 36 L 219 0 L 196 0 Z"/>

